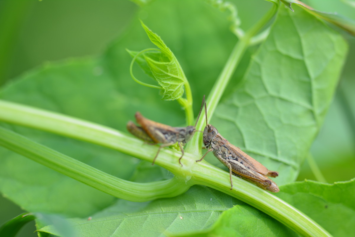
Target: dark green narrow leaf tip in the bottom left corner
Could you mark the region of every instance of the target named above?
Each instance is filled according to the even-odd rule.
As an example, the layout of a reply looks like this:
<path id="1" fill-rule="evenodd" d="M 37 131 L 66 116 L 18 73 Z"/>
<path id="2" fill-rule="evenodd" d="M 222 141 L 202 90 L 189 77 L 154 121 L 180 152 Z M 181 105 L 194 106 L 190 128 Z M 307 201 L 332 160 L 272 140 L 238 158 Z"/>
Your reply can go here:
<path id="1" fill-rule="evenodd" d="M 22 213 L 0 226 L 0 236 L 15 237 L 17 232 L 28 222 L 33 221 L 35 216 L 31 213 Z"/>

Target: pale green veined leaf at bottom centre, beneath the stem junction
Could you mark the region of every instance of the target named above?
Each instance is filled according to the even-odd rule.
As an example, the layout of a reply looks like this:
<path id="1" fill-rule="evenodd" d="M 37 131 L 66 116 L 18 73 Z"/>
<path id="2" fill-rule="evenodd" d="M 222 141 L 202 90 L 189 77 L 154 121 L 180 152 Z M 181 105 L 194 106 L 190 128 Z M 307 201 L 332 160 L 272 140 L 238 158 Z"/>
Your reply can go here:
<path id="1" fill-rule="evenodd" d="M 78 231 L 78 237 L 86 236 L 92 229 L 100 230 L 100 237 L 109 236 L 159 236 L 181 232 L 200 231 L 211 226 L 215 220 L 233 205 L 251 206 L 220 193 L 214 189 L 195 185 L 186 193 L 170 199 L 159 199 L 149 203 L 132 203 L 118 200 L 114 205 L 92 215 L 92 219 L 70 219 Z M 256 213 L 255 213 L 256 212 Z M 260 211 L 255 215 L 277 223 Z M 134 225 L 132 225 L 134 223 Z M 246 224 L 247 225 L 247 224 Z M 253 223 L 250 222 L 249 226 Z M 53 226 L 39 231 L 61 236 Z"/>

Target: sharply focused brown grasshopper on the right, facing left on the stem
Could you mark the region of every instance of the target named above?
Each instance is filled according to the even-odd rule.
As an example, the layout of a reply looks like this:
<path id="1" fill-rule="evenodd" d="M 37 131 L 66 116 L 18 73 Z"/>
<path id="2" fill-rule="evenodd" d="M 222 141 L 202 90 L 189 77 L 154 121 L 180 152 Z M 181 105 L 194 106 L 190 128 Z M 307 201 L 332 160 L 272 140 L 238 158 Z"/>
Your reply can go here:
<path id="1" fill-rule="evenodd" d="M 279 173 L 276 171 L 269 171 L 261 163 L 240 150 L 239 147 L 230 144 L 225 138 L 223 138 L 214 126 L 207 124 L 207 111 L 206 127 L 203 131 L 203 144 L 208 150 L 203 157 L 196 162 L 202 161 L 208 152 L 213 151 L 213 155 L 217 157 L 223 165 L 229 168 L 231 190 L 233 189 L 233 174 L 270 192 L 277 193 L 280 191 L 277 184 L 267 177 L 277 177 Z"/>

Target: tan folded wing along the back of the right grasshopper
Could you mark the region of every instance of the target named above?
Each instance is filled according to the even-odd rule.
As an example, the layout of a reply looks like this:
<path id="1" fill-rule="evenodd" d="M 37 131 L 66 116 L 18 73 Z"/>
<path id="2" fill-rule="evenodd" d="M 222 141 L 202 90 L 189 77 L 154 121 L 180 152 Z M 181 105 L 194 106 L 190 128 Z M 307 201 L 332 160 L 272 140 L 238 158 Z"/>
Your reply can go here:
<path id="1" fill-rule="evenodd" d="M 249 155 L 247 155 L 244 151 L 240 150 L 238 147 L 230 143 L 226 145 L 228 145 L 228 150 L 231 153 L 232 157 L 234 157 L 235 161 L 242 163 L 243 165 L 249 167 L 250 169 L 258 173 L 265 174 L 265 175 L 269 173 L 269 170 L 265 166 L 257 162 L 255 159 L 251 158 Z"/>

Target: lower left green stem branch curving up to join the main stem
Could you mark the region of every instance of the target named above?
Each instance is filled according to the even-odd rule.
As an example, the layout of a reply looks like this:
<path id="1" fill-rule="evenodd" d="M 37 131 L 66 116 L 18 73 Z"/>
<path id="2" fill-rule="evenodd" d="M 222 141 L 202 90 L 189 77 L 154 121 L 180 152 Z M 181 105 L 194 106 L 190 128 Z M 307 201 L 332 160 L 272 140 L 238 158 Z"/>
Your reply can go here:
<path id="1" fill-rule="evenodd" d="M 126 181 L 1 127 L 0 145 L 102 192 L 126 200 L 143 202 L 172 197 L 189 189 L 178 177 L 150 183 Z"/>

